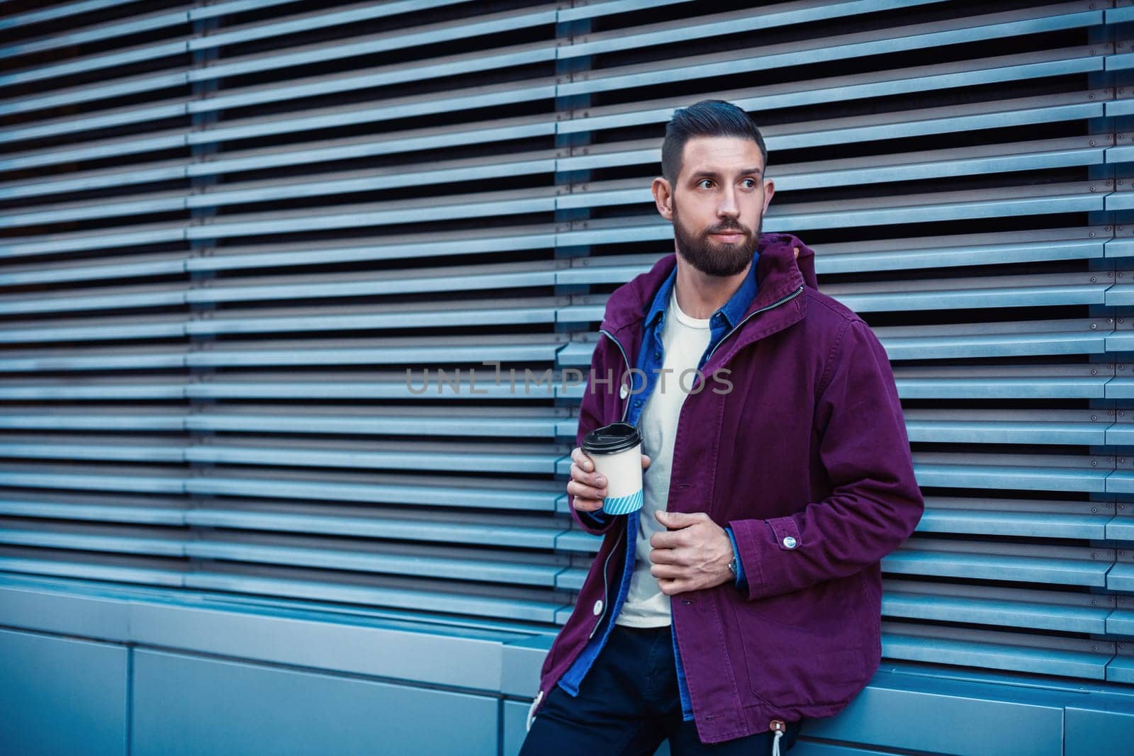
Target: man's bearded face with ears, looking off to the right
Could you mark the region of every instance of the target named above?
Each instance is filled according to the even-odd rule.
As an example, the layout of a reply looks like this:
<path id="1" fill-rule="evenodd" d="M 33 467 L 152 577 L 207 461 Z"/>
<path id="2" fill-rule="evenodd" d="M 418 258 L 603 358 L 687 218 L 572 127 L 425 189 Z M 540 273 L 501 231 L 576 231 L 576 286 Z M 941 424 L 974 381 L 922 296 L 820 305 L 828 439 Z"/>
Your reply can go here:
<path id="1" fill-rule="evenodd" d="M 763 179 L 763 169 L 760 146 L 751 139 L 695 137 L 685 143 L 668 216 L 677 254 L 693 267 L 709 275 L 736 275 L 752 260 L 775 190 Z"/>

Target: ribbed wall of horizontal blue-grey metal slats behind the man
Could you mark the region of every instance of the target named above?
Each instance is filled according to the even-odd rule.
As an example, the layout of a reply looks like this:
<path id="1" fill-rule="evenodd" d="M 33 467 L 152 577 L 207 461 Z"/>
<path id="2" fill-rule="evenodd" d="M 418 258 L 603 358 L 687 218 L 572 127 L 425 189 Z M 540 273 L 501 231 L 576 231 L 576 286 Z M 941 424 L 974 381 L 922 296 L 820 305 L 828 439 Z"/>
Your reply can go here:
<path id="1" fill-rule="evenodd" d="M 716 96 L 895 365 L 886 655 L 1134 682 L 1129 0 L 0 12 L 0 570 L 553 631 L 565 371 Z"/>

